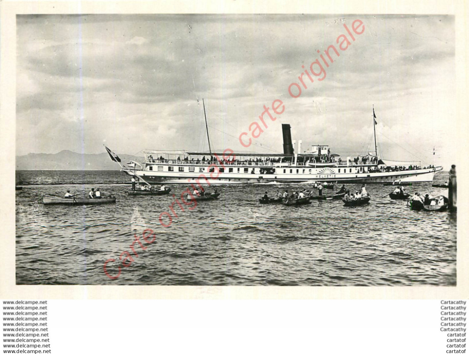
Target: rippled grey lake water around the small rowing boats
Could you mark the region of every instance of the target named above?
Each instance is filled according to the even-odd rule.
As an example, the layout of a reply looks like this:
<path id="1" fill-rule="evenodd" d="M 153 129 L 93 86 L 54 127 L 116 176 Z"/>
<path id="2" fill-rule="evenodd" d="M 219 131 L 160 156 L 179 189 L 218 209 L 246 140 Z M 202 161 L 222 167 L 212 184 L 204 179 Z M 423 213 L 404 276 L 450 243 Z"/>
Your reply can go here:
<path id="1" fill-rule="evenodd" d="M 439 173 L 434 182 L 443 182 Z M 411 211 L 383 195 L 393 187 L 369 184 L 368 205 L 340 200 L 286 207 L 260 205 L 265 191 L 309 185 L 218 186 L 219 200 L 181 211 L 171 226 L 169 196 L 127 196 L 129 176 L 119 171 L 17 171 L 16 283 L 107 285 L 455 286 L 456 214 Z M 115 204 L 44 205 L 42 196 L 91 187 Z M 173 185 L 180 196 L 186 186 Z M 347 185 L 353 190 L 359 185 Z M 209 188 L 209 191 L 212 188 Z M 431 183 L 406 187 L 447 196 Z M 325 193 L 331 192 L 325 190 Z M 142 240 L 150 228 L 151 244 Z M 140 235 L 145 250 L 134 242 Z M 119 260 L 132 256 L 124 267 Z M 103 269 L 108 259 L 109 279 Z M 127 262 L 129 262 L 129 258 Z"/>

